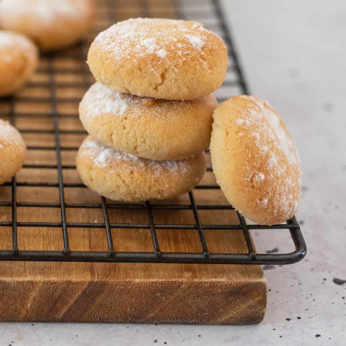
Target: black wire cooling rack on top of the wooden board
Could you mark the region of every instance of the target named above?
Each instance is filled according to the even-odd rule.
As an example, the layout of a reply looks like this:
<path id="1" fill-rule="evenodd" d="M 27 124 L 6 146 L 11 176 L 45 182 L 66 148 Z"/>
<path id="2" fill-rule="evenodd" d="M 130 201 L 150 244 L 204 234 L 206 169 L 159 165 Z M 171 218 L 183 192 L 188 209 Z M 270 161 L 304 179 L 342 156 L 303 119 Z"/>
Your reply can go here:
<path id="1" fill-rule="evenodd" d="M 119 16 L 119 12 L 122 13 Z M 117 20 L 125 19 L 126 17 L 177 17 L 182 19 L 200 21 L 207 28 L 216 31 L 226 42 L 229 54 L 229 68 L 225 82 L 221 88 L 215 93 L 218 102 L 222 102 L 226 98 L 235 94 L 249 94 L 247 84 L 244 80 L 242 70 L 238 61 L 238 56 L 235 47 L 232 43 L 227 24 L 222 13 L 219 1 L 217 0 L 203 0 L 196 4 L 193 0 L 156 0 L 156 1 L 100 1 L 98 10 L 98 17 L 95 25 L 91 30 L 89 38 L 79 44 L 78 46 L 64 52 L 56 54 L 43 55 L 45 65 L 39 67 L 37 73 L 45 73 L 48 75 L 47 80 L 36 80 L 27 84 L 28 88 L 47 88 L 49 93 L 43 95 L 16 95 L 7 99 L 0 100 L 2 106 L 7 111 L 1 111 L 1 117 L 7 117 L 13 125 L 17 125 L 22 134 L 42 135 L 49 134 L 54 136 L 54 145 L 40 145 L 30 146 L 30 151 L 55 151 L 56 164 L 25 164 L 23 171 L 27 169 L 38 169 L 44 172 L 48 170 L 55 170 L 57 173 L 57 182 L 26 182 L 17 181 L 16 176 L 12 178 L 11 182 L 4 183 L 0 186 L 0 195 L 3 189 L 11 189 L 11 199 L 8 201 L 0 201 L 0 207 L 10 207 L 11 217 L 9 220 L 0 221 L 1 228 L 11 228 L 12 230 L 12 248 L 0 249 L 0 260 L 2 261 L 66 261 L 66 262 L 151 262 L 151 263 L 208 263 L 208 264 L 291 264 L 300 261 L 306 254 L 306 244 L 300 231 L 299 224 L 295 217 L 288 220 L 285 224 L 274 226 L 261 226 L 261 225 L 247 225 L 244 217 L 237 213 L 239 223 L 236 225 L 230 224 L 217 224 L 206 225 L 202 224 L 200 219 L 201 210 L 224 210 L 231 212 L 234 208 L 230 205 L 216 205 L 216 204 L 197 204 L 195 201 L 194 192 L 188 194 L 188 204 L 153 204 L 146 201 L 142 204 L 116 204 L 108 202 L 105 198 L 101 197 L 99 203 L 67 203 L 65 199 L 66 188 L 85 188 L 81 183 L 64 182 L 63 172 L 65 170 L 75 170 L 73 164 L 63 164 L 62 153 L 78 150 L 77 146 L 63 146 L 61 144 L 62 135 L 81 135 L 86 134 L 82 129 L 61 129 L 59 121 L 64 119 L 77 118 L 78 114 L 61 113 L 58 109 L 58 104 L 67 102 L 79 102 L 80 97 L 60 97 L 57 94 L 57 88 L 82 88 L 84 91 L 89 88 L 92 80 L 90 72 L 85 64 L 77 67 L 57 67 L 54 63 L 55 57 L 62 59 L 70 58 L 74 61 L 85 62 L 86 52 L 91 43 L 92 38 L 101 30 L 107 28 Z M 121 18 L 120 18 L 121 17 Z M 59 81 L 56 78 L 58 73 L 67 73 L 78 75 L 78 81 L 66 82 Z M 20 112 L 17 109 L 17 104 L 24 102 L 26 104 L 46 102 L 51 105 L 49 114 L 39 111 L 33 112 Z M 35 115 L 42 116 L 42 118 L 51 117 L 53 127 L 51 129 L 42 128 L 21 128 L 17 122 L 17 118 L 26 118 L 30 121 L 30 117 Z M 22 122 L 21 122 L 22 123 Z M 208 167 L 210 172 L 212 169 Z M 37 201 L 18 201 L 17 188 L 21 186 L 45 188 L 58 188 L 59 202 L 37 202 Z M 219 189 L 218 185 L 198 185 L 198 189 Z M 84 190 L 85 191 L 85 190 Z M 49 192 L 47 192 L 49 195 Z M 18 221 L 17 208 L 55 208 L 60 209 L 61 219 L 58 222 L 41 222 L 41 221 Z M 82 209 L 101 209 L 103 212 L 103 222 L 68 222 L 66 218 L 66 210 L 73 208 Z M 127 211 L 144 210 L 147 214 L 146 223 L 112 223 L 109 220 L 109 210 L 122 209 Z M 153 211 L 161 210 L 190 210 L 193 213 L 194 224 L 157 224 L 154 222 Z M 1 219 L 0 219 L 1 220 Z M 17 239 L 17 228 L 28 227 L 41 229 L 45 227 L 56 228 L 62 232 L 63 250 L 36 250 L 36 249 L 20 249 Z M 70 228 L 99 228 L 103 229 L 104 236 L 107 238 L 108 251 L 71 251 L 69 245 Z M 112 239 L 112 229 L 147 229 L 151 232 L 152 243 L 154 251 L 152 252 L 118 252 L 115 251 Z M 163 252 L 160 249 L 156 230 L 160 229 L 179 229 L 179 230 L 197 230 L 202 252 L 183 253 L 183 252 Z M 246 253 L 216 253 L 209 250 L 205 230 L 241 230 L 243 232 L 247 251 Z M 252 237 L 249 233 L 251 230 L 273 229 L 277 231 L 288 231 L 295 246 L 295 251 L 291 253 L 256 253 L 255 245 L 253 244 Z"/>

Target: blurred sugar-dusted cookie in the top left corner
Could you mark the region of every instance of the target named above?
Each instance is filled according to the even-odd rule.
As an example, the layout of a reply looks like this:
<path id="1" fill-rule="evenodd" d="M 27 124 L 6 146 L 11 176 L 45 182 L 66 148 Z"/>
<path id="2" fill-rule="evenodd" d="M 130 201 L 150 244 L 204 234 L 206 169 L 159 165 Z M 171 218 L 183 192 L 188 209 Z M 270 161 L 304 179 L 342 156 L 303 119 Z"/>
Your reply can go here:
<path id="1" fill-rule="evenodd" d="M 0 24 L 30 37 L 42 51 L 51 51 L 81 39 L 94 12 L 91 0 L 2 0 Z"/>

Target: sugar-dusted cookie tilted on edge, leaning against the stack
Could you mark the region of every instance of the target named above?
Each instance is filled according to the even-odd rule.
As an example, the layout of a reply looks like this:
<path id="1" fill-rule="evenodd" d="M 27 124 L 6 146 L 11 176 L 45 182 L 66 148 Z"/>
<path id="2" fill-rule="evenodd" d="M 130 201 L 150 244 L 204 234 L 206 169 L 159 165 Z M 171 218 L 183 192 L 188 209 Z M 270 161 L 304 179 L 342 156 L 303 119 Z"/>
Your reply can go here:
<path id="1" fill-rule="evenodd" d="M 228 201 L 248 219 L 280 224 L 297 211 L 300 158 L 283 121 L 266 101 L 237 96 L 213 113 L 211 162 Z"/>

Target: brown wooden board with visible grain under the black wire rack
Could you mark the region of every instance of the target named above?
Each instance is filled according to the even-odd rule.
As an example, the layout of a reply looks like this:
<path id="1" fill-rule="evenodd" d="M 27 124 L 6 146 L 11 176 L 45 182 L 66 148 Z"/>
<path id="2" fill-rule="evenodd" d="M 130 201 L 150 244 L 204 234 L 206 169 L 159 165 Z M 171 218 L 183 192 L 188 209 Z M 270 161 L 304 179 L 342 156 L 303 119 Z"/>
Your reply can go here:
<path id="1" fill-rule="evenodd" d="M 136 1 L 119 6 L 116 20 L 140 16 Z M 175 17 L 169 1 L 162 7 L 148 2 L 149 15 Z M 165 7 L 164 7 L 165 6 Z M 161 12 L 159 9 L 161 8 Z M 162 13 L 164 8 L 165 15 Z M 159 13 L 156 13 L 159 12 Z M 99 6 L 92 33 L 84 45 L 51 57 L 42 57 L 37 73 L 15 99 L 16 126 L 20 130 L 53 130 L 54 104 L 48 70 L 54 70 L 56 111 L 60 130 L 83 129 L 78 103 L 93 79 L 85 54 L 95 31 L 108 27 L 106 10 Z M 70 72 L 66 72 L 70 69 Z M 71 72 L 71 69 L 74 72 Z M 45 100 L 35 101 L 39 97 Z M 10 118 L 10 103 L 0 100 L 0 117 Z M 54 133 L 25 133 L 29 149 L 25 164 L 57 164 Z M 61 134 L 61 145 L 78 146 L 84 134 Z M 62 164 L 75 164 L 75 150 L 62 150 Z M 210 155 L 208 154 L 210 163 Z M 18 182 L 58 182 L 56 169 L 23 168 Z M 81 180 L 75 169 L 63 170 L 64 183 Z M 202 184 L 215 184 L 207 172 Z M 87 188 L 64 188 L 67 203 L 101 203 Z M 197 204 L 228 204 L 220 190 L 194 190 Z M 17 187 L 18 202 L 60 203 L 57 187 Z M 0 201 L 11 201 L 11 186 L 0 186 Z M 108 201 L 109 202 L 109 201 Z M 190 204 L 188 194 L 162 204 Z M 199 210 L 202 224 L 239 224 L 233 210 Z M 153 210 L 155 223 L 195 224 L 192 210 Z M 11 221 L 11 207 L 0 207 L 0 221 Z M 67 208 L 67 222 L 103 223 L 102 209 Z M 109 209 L 111 223 L 148 224 L 142 209 Z M 18 207 L 18 221 L 60 222 L 60 208 Z M 102 228 L 69 228 L 71 251 L 107 251 Z M 240 230 L 205 230 L 209 250 L 246 253 Z M 112 229 L 115 251 L 154 251 L 149 229 Z M 162 252 L 201 252 L 197 230 L 158 229 Z M 18 227 L 20 250 L 62 250 L 61 228 Z M 0 248 L 12 248 L 10 227 L 0 227 Z M 175 324 L 254 324 L 266 310 L 267 285 L 261 266 L 150 264 L 150 263 L 57 263 L 0 262 L 0 320 L 44 322 L 122 322 Z"/>

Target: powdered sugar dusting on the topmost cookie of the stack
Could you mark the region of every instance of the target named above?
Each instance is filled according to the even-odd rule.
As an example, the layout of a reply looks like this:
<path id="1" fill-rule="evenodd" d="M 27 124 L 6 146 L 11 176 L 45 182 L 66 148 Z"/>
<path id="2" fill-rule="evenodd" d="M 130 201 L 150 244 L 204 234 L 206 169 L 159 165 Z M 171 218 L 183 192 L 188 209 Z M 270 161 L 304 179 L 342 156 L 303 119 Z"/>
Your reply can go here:
<path id="1" fill-rule="evenodd" d="M 191 25 L 191 22 L 183 20 L 130 18 L 102 31 L 94 42 L 118 61 L 127 59 L 129 52 L 134 52 L 137 58 L 155 54 L 169 65 L 172 63 L 169 59 L 171 54 L 180 55 L 184 61 L 186 56 L 205 55 L 202 48 L 207 43 L 217 45 L 214 40 L 207 42 L 207 35 L 217 35 L 210 30 L 199 30 L 201 27 L 200 23 Z"/>

